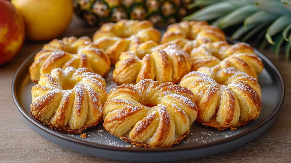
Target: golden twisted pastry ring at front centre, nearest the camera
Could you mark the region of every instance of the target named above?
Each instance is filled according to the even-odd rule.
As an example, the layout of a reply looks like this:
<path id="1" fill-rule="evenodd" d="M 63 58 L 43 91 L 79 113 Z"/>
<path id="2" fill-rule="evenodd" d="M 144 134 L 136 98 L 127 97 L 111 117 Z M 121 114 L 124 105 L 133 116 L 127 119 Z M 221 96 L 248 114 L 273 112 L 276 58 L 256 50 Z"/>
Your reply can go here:
<path id="1" fill-rule="evenodd" d="M 135 146 L 180 143 L 197 116 L 194 94 L 173 83 L 146 79 L 113 88 L 104 105 L 104 128 Z"/>

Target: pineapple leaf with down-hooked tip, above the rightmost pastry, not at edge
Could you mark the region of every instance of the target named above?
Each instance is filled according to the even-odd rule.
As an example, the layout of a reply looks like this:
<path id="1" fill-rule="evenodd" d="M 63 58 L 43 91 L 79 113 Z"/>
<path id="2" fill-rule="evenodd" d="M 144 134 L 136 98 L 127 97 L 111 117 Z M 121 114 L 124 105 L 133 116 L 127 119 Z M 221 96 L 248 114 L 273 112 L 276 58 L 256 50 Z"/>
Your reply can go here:
<path id="1" fill-rule="evenodd" d="M 276 20 L 280 15 L 272 14 L 266 11 L 258 11 L 251 16 L 247 17 L 244 20 L 244 27 L 247 29 L 247 25 L 258 23 L 258 22 L 273 22 Z"/>

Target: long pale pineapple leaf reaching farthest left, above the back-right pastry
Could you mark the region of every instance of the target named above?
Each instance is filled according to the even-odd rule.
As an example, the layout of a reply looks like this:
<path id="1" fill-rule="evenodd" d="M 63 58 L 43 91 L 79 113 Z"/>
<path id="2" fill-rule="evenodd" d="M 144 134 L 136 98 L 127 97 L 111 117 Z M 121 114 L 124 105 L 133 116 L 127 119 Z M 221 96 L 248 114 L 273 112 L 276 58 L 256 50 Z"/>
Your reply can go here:
<path id="1" fill-rule="evenodd" d="M 231 11 L 239 8 L 240 6 L 233 5 L 228 2 L 214 3 L 207 6 L 195 13 L 184 17 L 182 20 L 215 20 L 223 15 L 230 13 Z"/>

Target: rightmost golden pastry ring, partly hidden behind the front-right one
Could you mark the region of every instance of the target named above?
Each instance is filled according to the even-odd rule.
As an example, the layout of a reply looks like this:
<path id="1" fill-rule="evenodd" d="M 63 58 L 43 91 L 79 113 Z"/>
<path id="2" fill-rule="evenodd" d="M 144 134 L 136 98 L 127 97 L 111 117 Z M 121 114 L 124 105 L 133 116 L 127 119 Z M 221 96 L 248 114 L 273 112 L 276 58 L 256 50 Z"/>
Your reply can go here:
<path id="1" fill-rule="evenodd" d="M 192 42 L 187 44 L 192 44 Z M 189 52 L 192 62 L 191 70 L 194 71 L 199 67 L 218 66 L 221 69 L 234 67 L 257 79 L 257 74 L 260 74 L 264 68 L 262 60 L 255 54 L 253 48 L 243 42 L 234 45 L 229 45 L 226 41 L 207 42 L 200 46 L 196 44 L 196 47 L 187 46 L 187 44 L 183 49 Z"/>

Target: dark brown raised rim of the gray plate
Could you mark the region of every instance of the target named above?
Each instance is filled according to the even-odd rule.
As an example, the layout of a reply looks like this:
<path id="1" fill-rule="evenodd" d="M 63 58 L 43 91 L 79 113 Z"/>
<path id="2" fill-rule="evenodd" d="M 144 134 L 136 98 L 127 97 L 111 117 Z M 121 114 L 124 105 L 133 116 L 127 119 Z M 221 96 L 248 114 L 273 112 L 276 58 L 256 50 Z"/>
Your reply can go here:
<path id="1" fill-rule="evenodd" d="M 231 42 L 237 43 L 239 41 L 234 41 L 233 40 Z M 236 134 L 236 135 L 224 138 L 224 139 L 216 140 L 216 141 L 203 143 L 203 144 L 200 144 L 200 145 L 190 145 L 190 146 L 182 146 L 182 147 L 168 147 L 168 148 L 126 148 L 126 147 L 118 147 L 118 146 L 109 146 L 109 145 L 105 145 L 105 144 L 101 144 L 101 143 L 89 142 L 89 141 L 77 139 L 77 138 L 74 138 L 74 137 L 70 137 L 70 136 L 61 134 L 58 131 L 52 130 L 50 128 L 47 128 L 44 125 L 42 125 L 41 123 L 39 123 L 36 119 L 31 118 L 24 111 L 24 109 L 21 107 L 21 105 L 19 104 L 19 101 L 17 99 L 17 96 L 16 96 L 16 94 L 17 94 L 16 93 L 16 87 L 17 87 L 17 85 L 16 85 L 17 82 L 16 81 L 20 76 L 19 72 L 25 71 L 24 68 L 27 67 L 27 64 L 29 63 L 29 61 L 41 49 L 42 49 L 42 47 L 40 47 L 35 52 L 33 52 L 30 56 L 28 56 L 23 61 L 23 63 L 19 66 L 19 68 L 15 72 L 15 75 L 13 76 L 12 85 L 11 85 L 11 91 L 12 91 L 13 102 L 14 102 L 14 104 L 16 106 L 16 109 L 18 110 L 18 113 L 21 114 L 22 117 L 26 118 L 26 120 L 31 122 L 33 125 L 38 127 L 38 129 L 41 129 L 42 131 L 46 132 L 47 134 L 50 134 L 50 135 L 52 135 L 54 137 L 58 137 L 59 139 L 62 139 L 62 140 L 65 140 L 65 141 L 78 143 L 79 145 L 89 146 L 89 147 L 92 147 L 92 148 L 99 148 L 99 149 L 105 149 L 105 150 L 114 150 L 114 151 L 119 151 L 119 152 L 134 152 L 134 153 L 157 153 L 157 152 L 159 152 L 159 153 L 162 153 L 162 152 L 173 152 L 173 151 L 182 151 L 182 150 L 194 150 L 194 149 L 199 149 L 199 148 L 206 148 L 206 147 L 213 146 L 213 145 L 219 145 L 221 143 L 225 143 L 227 141 L 238 139 L 239 137 L 242 137 L 242 136 L 244 136 L 246 134 L 249 134 L 249 133 L 253 132 L 255 129 L 259 128 L 260 126 L 262 126 L 262 125 L 266 124 L 267 122 L 271 121 L 274 117 L 276 117 L 276 114 L 278 114 L 279 111 L 281 110 L 281 106 L 283 104 L 284 97 L 285 97 L 285 85 L 284 85 L 283 77 L 282 77 L 280 71 L 276 68 L 276 66 L 272 63 L 272 61 L 270 61 L 264 54 L 262 54 L 261 52 L 259 52 L 258 50 L 256 50 L 254 48 L 256 54 L 263 61 L 265 61 L 276 72 L 276 75 L 278 76 L 279 81 L 281 83 L 281 91 L 282 91 L 282 93 L 281 93 L 280 101 L 279 101 L 276 109 L 265 120 L 263 120 L 262 122 L 260 122 L 259 124 L 255 125 L 254 127 L 250 128 L 250 129 L 248 129 L 246 131 L 243 131 L 243 132 L 241 132 L 239 134 Z"/>

